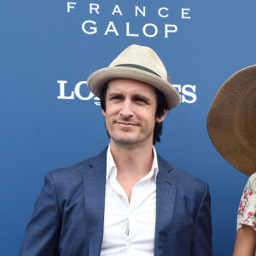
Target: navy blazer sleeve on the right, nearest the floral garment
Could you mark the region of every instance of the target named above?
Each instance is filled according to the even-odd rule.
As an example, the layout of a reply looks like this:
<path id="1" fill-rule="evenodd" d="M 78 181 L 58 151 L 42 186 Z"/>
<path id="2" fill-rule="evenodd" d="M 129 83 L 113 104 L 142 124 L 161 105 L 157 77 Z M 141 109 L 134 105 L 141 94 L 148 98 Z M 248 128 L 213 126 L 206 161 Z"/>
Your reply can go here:
<path id="1" fill-rule="evenodd" d="M 195 218 L 191 256 L 212 256 L 211 198 L 207 184 Z"/>

